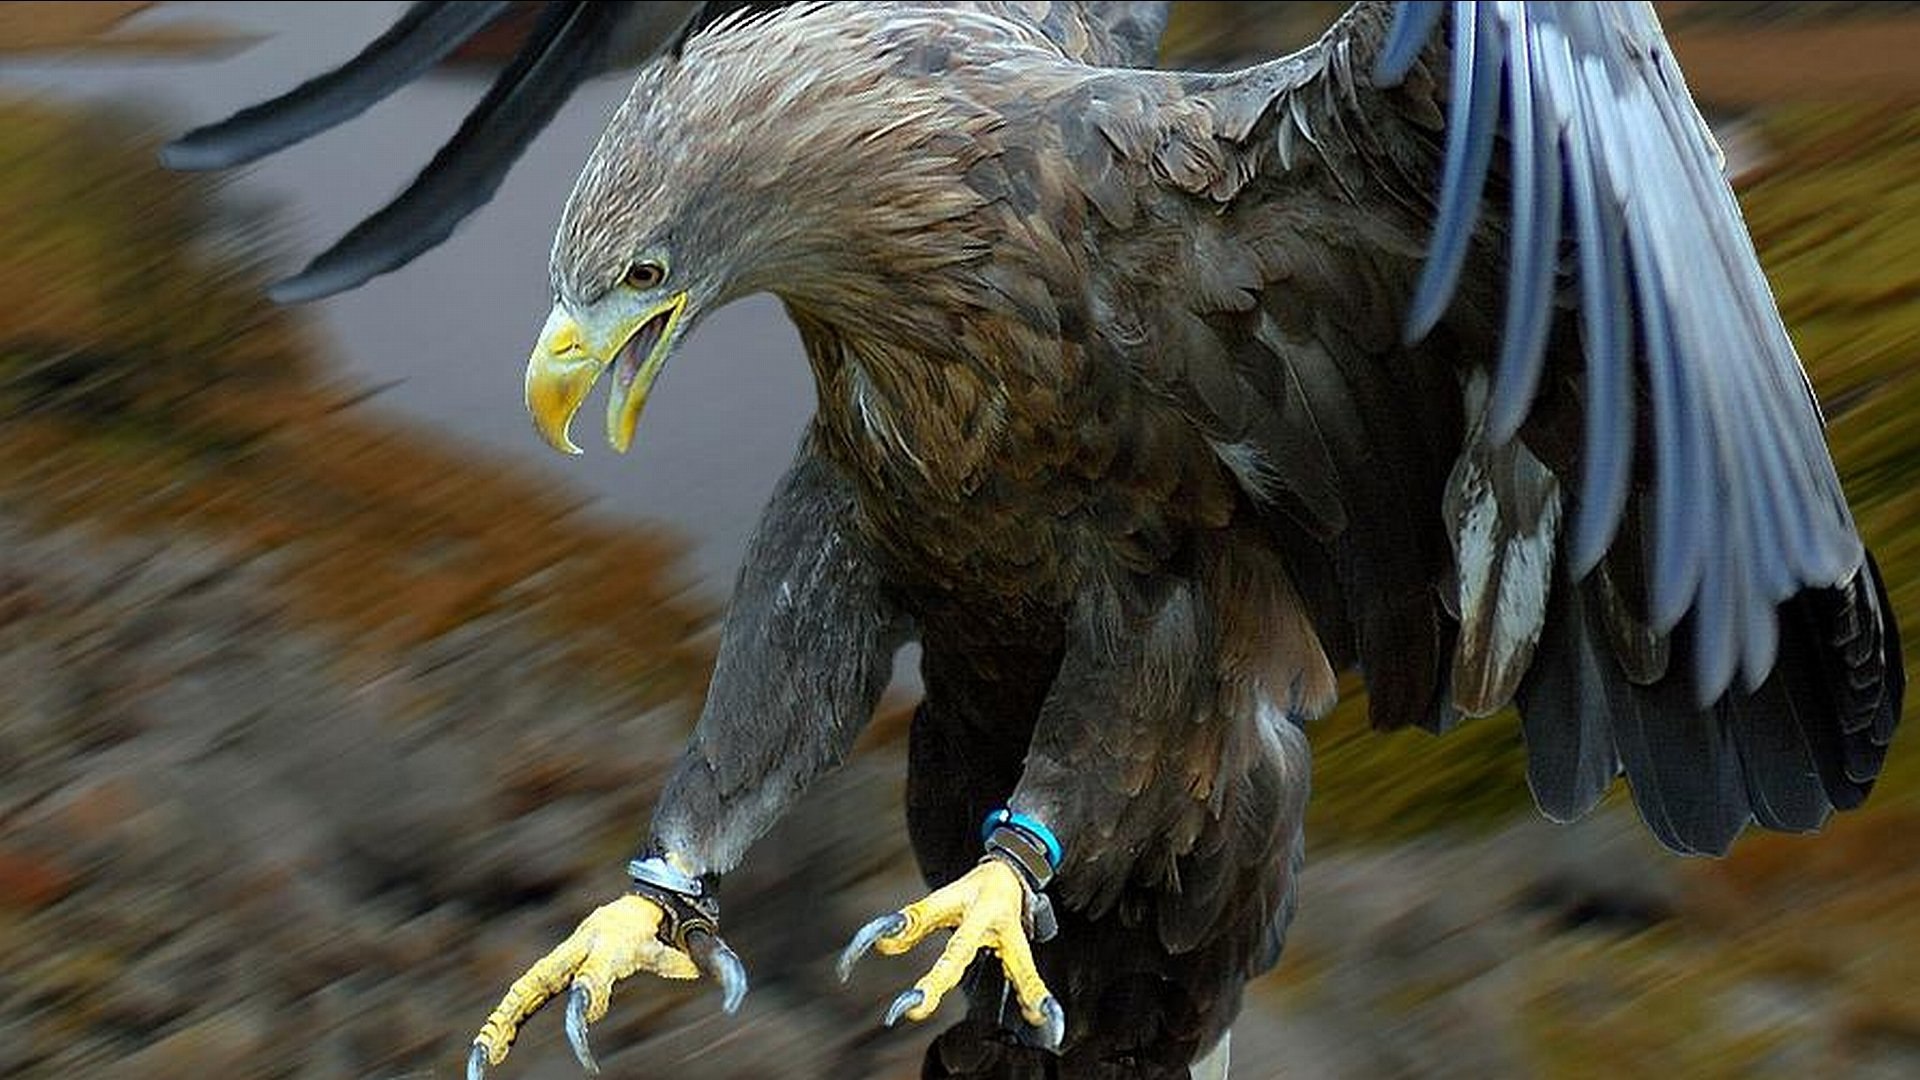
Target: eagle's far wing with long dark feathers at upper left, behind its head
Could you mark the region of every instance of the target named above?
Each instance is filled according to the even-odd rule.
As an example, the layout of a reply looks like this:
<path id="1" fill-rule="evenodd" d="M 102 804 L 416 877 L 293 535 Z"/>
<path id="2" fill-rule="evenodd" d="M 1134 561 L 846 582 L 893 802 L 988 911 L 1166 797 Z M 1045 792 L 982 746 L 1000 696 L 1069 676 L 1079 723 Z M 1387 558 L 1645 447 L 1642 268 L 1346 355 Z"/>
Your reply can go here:
<path id="1" fill-rule="evenodd" d="M 298 275 L 276 282 L 273 298 L 319 300 L 407 265 L 493 198 L 513 163 L 582 83 L 662 52 L 678 54 L 693 35 L 718 33 L 787 2 L 541 4 L 513 61 L 420 175 Z M 511 8 L 505 0 L 417 0 L 353 60 L 271 102 L 186 133 L 161 160 L 173 169 L 227 169 L 321 135 L 419 79 Z M 1167 19 L 1167 4 L 1131 0 L 995 8 L 1033 21 L 1071 56 L 1100 63 L 1150 63 Z"/>

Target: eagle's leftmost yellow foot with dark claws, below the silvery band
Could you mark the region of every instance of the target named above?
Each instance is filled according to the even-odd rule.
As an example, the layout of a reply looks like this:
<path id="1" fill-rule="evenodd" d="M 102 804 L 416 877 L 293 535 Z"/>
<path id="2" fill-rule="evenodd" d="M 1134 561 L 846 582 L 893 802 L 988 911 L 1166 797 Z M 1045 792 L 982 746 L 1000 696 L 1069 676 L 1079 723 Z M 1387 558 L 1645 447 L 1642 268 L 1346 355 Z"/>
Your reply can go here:
<path id="1" fill-rule="evenodd" d="M 593 909 L 578 930 L 507 988 L 507 995 L 474 1036 L 472 1053 L 467 1057 L 467 1080 L 482 1080 L 490 1065 L 505 1061 L 507 1049 L 520 1034 L 520 1022 L 563 990 L 570 990 L 566 1040 L 588 1072 L 599 1072 L 588 1045 L 588 1024 L 607 1017 L 612 984 L 634 972 L 699 978 L 705 967 L 720 980 L 728 1013 L 737 1009 L 741 995 L 747 994 L 747 974 L 733 951 L 718 938 L 699 934 L 701 945 L 707 947 L 695 949 L 705 953 L 703 963 L 695 963 L 695 957 L 660 940 L 664 919 L 660 905 L 643 896 L 622 896 Z"/>

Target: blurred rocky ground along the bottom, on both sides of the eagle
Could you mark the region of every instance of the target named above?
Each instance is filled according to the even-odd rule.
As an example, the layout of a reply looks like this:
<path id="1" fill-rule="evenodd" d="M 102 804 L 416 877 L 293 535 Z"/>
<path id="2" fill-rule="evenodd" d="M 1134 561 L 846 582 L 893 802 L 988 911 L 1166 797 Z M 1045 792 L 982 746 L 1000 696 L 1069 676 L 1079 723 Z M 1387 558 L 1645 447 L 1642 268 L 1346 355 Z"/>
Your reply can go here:
<path id="1" fill-rule="evenodd" d="M 371 661 L 290 625 L 276 573 L 0 517 L 0 1074 L 455 1076 L 620 888 L 682 709 L 626 709 L 511 611 Z M 906 965 L 828 967 L 914 888 L 899 776 L 868 748 L 728 880 L 743 1013 L 628 984 L 609 1074 L 914 1074 L 924 1032 L 877 1026 Z M 1315 851 L 1235 1076 L 1910 1076 L 1907 824 L 1834 840 L 1878 851 L 1872 894 L 1839 859 L 1701 871 L 1619 813 Z M 1805 955 L 1755 965 L 1776 934 Z M 557 1017 L 507 1074 L 576 1074 Z"/>

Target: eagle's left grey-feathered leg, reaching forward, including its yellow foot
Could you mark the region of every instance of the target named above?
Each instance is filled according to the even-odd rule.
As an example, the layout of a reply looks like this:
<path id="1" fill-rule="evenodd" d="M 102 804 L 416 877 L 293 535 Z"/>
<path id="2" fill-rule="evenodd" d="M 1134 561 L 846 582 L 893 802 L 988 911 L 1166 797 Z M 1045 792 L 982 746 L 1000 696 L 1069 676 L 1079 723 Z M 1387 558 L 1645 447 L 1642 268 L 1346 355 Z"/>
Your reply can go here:
<path id="1" fill-rule="evenodd" d="M 808 442 L 768 503 L 720 632 L 707 705 L 630 867 L 634 896 L 599 907 L 520 976 L 474 1038 L 468 1076 L 507 1057 L 520 1022 L 570 992 L 566 1032 L 593 1070 L 586 1028 L 628 974 L 722 980 L 745 972 L 718 936 L 718 876 L 839 765 L 874 713 L 904 623 L 845 528 L 852 496 Z"/>

